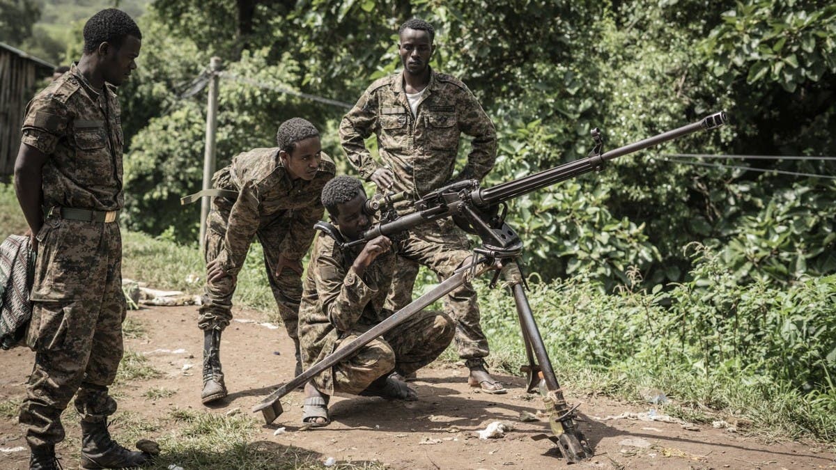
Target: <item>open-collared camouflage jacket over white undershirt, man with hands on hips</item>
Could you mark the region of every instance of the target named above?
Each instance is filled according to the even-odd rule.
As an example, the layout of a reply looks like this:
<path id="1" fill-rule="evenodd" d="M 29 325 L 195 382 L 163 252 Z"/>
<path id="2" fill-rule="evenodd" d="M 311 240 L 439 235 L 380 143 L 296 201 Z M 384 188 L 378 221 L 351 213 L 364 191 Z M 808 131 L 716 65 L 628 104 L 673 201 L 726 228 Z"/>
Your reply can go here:
<path id="1" fill-rule="evenodd" d="M 473 140 L 458 176 L 481 180 L 497 159 L 497 132 L 465 84 L 435 71 L 415 116 L 399 73 L 371 84 L 339 126 L 345 153 L 360 176 L 368 180 L 380 166 L 387 166 L 395 173 L 395 191 L 414 196 L 453 178 L 462 132 Z M 364 145 L 372 133 L 377 135 L 382 165 Z"/>

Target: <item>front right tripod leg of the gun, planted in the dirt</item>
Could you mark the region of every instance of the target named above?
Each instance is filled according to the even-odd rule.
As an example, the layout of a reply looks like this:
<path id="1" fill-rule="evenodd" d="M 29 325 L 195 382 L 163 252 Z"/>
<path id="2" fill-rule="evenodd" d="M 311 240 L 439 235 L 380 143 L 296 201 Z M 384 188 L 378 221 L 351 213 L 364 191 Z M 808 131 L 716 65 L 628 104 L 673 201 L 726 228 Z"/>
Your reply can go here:
<path id="1" fill-rule="evenodd" d="M 558 384 L 558 378 L 554 375 L 552 361 L 548 358 L 546 345 L 543 344 L 543 337 L 540 336 L 537 323 L 528 304 L 528 297 L 523 289 L 522 275 L 517 263 L 507 263 L 503 268 L 505 278 L 510 284 L 514 302 L 517 304 L 517 315 L 523 327 L 523 339 L 527 340 L 534 355 L 540 363 L 543 371 L 543 380 L 546 382 L 548 394 L 543 398 L 548 411 L 548 424 L 552 429 L 553 442 L 558 445 L 558 450 L 566 458 L 567 462 L 581 462 L 585 458 L 592 457 L 592 450 L 584 437 L 584 434 L 575 427 L 573 421 L 573 409 L 570 409 L 563 398 L 563 390 Z"/>

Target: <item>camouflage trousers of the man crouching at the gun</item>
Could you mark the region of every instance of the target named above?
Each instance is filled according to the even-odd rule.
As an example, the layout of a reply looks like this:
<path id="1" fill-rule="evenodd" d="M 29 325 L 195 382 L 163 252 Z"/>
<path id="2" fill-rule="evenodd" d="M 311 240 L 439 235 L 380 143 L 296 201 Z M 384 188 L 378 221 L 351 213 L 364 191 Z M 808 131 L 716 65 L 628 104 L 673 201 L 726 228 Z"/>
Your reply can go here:
<path id="1" fill-rule="evenodd" d="M 436 360 L 450 345 L 454 332 L 454 322 L 446 314 L 422 310 L 334 365 L 334 392 L 357 395 L 375 379 L 393 370 L 401 375 L 411 374 Z M 334 350 L 356 340 L 362 333 L 358 331 L 339 340 Z M 314 384 L 323 390 L 316 379 Z"/>

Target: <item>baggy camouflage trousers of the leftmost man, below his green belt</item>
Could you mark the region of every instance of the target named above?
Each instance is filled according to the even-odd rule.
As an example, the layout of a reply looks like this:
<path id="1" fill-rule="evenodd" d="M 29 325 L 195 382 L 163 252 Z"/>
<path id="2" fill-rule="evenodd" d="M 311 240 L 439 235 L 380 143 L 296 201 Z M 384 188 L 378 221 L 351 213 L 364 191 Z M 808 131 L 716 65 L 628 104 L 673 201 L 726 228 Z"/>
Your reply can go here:
<path id="1" fill-rule="evenodd" d="M 75 396 L 84 421 L 116 411 L 108 386 L 122 359 L 122 240 L 117 222 L 49 217 L 38 232 L 28 345 L 35 365 L 20 424 L 30 447 L 64 440 L 61 412 Z"/>

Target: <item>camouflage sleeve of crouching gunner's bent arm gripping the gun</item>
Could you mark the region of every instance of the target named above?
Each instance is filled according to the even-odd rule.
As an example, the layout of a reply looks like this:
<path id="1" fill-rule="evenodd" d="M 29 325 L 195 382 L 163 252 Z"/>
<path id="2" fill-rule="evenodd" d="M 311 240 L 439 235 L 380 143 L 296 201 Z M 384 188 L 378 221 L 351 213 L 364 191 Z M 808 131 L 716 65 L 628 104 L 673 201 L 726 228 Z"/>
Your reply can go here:
<path id="1" fill-rule="evenodd" d="M 314 266 L 308 269 L 313 269 L 317 294 L 329 322 L 339 331 L 350 331 L 365 305 L 377 294 L 376 287 L 366 284 L 354 268 L 346 272 L 339 260 L 331 256 L 316 257 Z"/>

